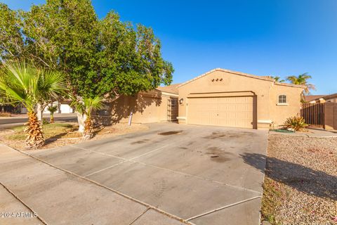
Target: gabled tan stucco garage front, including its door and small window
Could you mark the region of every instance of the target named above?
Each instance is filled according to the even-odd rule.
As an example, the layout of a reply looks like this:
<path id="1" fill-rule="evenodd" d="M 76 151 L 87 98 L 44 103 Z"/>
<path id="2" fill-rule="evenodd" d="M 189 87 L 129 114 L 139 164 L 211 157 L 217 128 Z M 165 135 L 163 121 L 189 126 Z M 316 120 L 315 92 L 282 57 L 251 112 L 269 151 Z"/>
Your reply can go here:
<path id="1" fill-rule="evenodd" d="M 178 86 L 179 123 L 224 127 L 281 126 L 300 113 L 305 86 L 215 69 Z"/>

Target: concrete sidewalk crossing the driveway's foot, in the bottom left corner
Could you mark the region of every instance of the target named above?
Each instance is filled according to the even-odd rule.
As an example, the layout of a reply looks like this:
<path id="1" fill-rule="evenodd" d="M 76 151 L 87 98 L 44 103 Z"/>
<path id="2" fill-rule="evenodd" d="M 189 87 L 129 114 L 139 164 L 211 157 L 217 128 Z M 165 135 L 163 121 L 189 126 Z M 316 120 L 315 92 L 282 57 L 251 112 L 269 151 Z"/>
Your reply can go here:
<path id="1" fill-rule="evenodd" d="M 7 146 L 0 145 L 0 155 L 0 212 L 37 214 L 0 218 L 0 224 L 183 224 Z"/>

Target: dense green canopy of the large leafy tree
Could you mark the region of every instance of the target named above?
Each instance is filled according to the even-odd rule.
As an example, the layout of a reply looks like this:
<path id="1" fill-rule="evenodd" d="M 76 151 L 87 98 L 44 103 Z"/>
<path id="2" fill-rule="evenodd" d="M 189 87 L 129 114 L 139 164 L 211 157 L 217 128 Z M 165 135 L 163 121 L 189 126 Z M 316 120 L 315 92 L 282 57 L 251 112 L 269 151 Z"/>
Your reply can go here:
<path id="1" fill-rule="evenodd" d="M 47 0 L 27 12 L 0 4 L 0 39 L 1 60 L 62 72 L 74 96 L 114 99 L 172 81 L 151 28 L 115 12 L 99 19 L 89 0 Z"/>

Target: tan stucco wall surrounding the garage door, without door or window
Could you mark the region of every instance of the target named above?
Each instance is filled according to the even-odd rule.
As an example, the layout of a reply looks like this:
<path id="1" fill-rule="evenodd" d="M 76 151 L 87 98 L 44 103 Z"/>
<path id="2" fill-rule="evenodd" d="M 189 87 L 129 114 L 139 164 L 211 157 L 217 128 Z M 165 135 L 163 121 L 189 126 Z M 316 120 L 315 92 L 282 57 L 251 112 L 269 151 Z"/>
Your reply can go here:
<path id="1" fill-rule="evenodd" d="M 275 84 L 273 80 L 237 75 L 214 70 L 178 87 L 179 123 L 187 123 L 189 96 L 216 93 L 221 96 L 242 96 L 251 92 L 256 98 L 256 127 L 269 128 L 270 122 L 283 124 L 287 117 L 300 113 L 300 92 L 303 88 Z M 286 94 L 289 105 L 277 105 L 278 94 Z"/>

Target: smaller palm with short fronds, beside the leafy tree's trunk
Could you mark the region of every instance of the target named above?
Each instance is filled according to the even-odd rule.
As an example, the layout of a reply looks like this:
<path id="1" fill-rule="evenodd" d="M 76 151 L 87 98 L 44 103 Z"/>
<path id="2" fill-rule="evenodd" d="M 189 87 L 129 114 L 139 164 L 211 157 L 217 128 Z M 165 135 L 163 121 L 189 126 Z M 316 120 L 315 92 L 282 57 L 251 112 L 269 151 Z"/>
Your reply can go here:
<path id="1" fill-rule="evenodd" d="M 84 115 L 84 139 L 91 139 L 93 137 L 93 120 L 91 113 L 93 110 L 100 110 L 103 108 L 103 97 L 95 96 L 93 98 L 83 98 L 82 101 L 73 100 L 74 106 L 78 113 Z"/>

